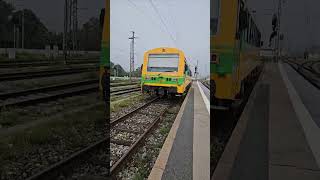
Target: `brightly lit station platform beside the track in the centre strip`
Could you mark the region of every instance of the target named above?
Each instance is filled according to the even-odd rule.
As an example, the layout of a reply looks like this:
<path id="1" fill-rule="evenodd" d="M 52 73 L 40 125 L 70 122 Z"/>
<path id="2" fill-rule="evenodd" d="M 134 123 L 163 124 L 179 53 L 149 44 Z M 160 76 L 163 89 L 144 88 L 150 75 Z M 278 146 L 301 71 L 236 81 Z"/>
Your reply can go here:
<path id="1" fill-rule="evenodd" d="M 210 179 L 209 100 L 193 81 L 148 179 Z"/>

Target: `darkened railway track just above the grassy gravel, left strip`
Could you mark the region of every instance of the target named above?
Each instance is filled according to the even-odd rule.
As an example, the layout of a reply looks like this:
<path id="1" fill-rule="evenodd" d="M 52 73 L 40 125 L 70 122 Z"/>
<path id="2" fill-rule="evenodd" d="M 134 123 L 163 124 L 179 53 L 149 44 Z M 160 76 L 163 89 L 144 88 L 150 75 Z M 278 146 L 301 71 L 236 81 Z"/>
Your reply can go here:
<path id="1" fill-rule="evenodd" d="M 86 80 L 0 94 L 0 109 L 21 107 L 98 91 L 98 80 Z"/>

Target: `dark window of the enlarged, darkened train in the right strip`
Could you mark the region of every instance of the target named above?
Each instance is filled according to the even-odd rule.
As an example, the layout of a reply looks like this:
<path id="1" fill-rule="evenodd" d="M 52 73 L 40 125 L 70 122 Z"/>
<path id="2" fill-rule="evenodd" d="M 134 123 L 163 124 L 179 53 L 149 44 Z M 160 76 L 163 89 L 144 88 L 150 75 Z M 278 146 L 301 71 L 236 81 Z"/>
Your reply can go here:
<path id="1" fill-rule="evenodd" d="M 220 23 L 220 0 L 213 0 L 211 3 L 211 11 L 210 11 L 210 30 L 211 35 L 217 34 L 219 31 L 219 23 Z"/>

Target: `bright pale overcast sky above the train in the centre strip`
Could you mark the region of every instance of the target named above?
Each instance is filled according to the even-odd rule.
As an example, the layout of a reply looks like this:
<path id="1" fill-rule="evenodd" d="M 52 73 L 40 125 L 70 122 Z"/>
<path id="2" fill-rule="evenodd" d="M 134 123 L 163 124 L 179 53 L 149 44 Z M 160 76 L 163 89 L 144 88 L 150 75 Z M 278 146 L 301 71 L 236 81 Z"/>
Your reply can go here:
<path id="1" fill-rule="evenodd" d="M 135 31 L 135 68 L 146 50 L 177 47 L 189 64 L 199 61 L 200 73 L 209 75 L 209 0 L 111 0 L 111 61 L 129 70 L 130 31 Z M 159 15 L 164 21 L 161 22 Z M 194 72 L 194 66 L 192 67 Z"/>

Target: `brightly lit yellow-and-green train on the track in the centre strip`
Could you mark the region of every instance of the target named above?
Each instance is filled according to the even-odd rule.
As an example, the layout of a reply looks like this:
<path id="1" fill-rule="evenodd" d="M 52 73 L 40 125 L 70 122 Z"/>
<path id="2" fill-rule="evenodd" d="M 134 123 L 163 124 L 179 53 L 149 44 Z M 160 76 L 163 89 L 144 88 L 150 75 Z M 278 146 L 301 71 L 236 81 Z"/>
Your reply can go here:
<path id="1" fill-rule="evenodd" d="M 183 95 L 191 85 L 191 70 L 184 53 L 160 47 L 144 54 L 141 68 L 143 93 Z"/>

